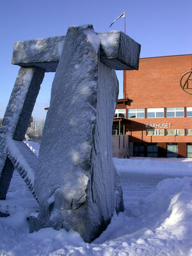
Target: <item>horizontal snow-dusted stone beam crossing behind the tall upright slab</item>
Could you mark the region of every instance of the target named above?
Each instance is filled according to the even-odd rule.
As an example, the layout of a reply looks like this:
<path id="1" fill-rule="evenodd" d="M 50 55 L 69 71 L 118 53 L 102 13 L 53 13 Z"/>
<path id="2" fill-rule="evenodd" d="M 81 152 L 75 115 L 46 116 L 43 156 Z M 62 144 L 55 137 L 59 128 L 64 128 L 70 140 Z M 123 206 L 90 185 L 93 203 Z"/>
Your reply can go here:
<path id="1" fill-rule="evenodd" d="M 121 31 L 97 34 L 100 39 L 100 60 L 116 70 L 138 69 L 140 44 Z M 60 61 L 65 36 L 15 42 L 12 64 L 40 67 L 55 72 Z"/>

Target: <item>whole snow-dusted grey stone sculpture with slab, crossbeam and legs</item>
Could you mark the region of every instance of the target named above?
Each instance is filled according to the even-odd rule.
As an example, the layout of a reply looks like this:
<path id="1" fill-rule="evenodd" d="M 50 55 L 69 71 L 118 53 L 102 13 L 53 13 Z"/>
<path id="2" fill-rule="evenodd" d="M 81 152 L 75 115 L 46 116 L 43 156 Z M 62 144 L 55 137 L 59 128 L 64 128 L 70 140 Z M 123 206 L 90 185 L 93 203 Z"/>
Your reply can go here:
<path id="1" fill-rule="evenodd" d="M 120 31 L 97 34 L 92 25 L 70 27 L 66 37 L 15 44 L 12 63 L 24 70 L 31 66 L 40 72 L 56 70 L 35 181 L 28 179 L 32 180 L 29 186 L 40 204 L 38 218 L 30 218 L 31 232 L 44 227 L 73 229 L 90 242 L 108 226 L 114 211 L 124 210 L 111 147 L 118 98 L 118 81 L 113 69 L 138 69 L 139 55 L 140 45 L 129 36 Z M 11 99 L 14 97 L 12 93 Z M 12 102 L 10 109 L 11 105 Z M 20 163 L 10 149 L 10 144 L 22 140 L 26 131 L 25 127 L 19 133 L 24 108 L 22 104 L 8 136 L 5 136 L 6 122 L 3 124 L 1 183 L 3 173 L 13 170 L 13 166 L 18 169 L 21 166 L 25 177 L 31 177 L 28 164 Z M 10 112 L 8 109 L 6 115 Z M 22 119 L 25 124 L 30 115 Z M 22 148 L 20 144 L 17 147 Z M 35 167 L 31 169 L 34 172 Z M 6 195 L 4 187 L 2 191 Z"/>

